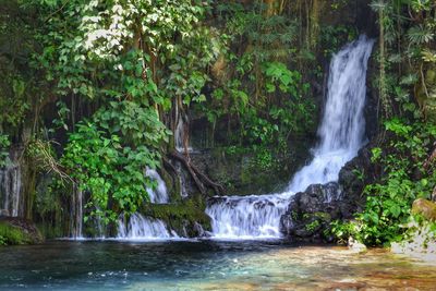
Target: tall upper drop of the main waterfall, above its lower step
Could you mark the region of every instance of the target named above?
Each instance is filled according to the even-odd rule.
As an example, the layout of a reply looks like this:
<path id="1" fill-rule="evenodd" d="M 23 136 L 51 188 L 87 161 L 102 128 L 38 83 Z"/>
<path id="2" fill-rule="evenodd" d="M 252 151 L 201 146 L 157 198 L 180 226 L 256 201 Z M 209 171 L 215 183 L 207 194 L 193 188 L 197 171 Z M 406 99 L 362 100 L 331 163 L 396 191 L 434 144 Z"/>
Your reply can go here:
<path id="1" fill-rule="evenodd" d="M 319 145 L 312 162 L 292 179 L 288 191 L 304 191 L 311 184 L 337 181 L 340 169 L 364 144 L 366 69 L 374 40 L 361 36 L 334 56 L 327 101 L 318 130 Z"/>

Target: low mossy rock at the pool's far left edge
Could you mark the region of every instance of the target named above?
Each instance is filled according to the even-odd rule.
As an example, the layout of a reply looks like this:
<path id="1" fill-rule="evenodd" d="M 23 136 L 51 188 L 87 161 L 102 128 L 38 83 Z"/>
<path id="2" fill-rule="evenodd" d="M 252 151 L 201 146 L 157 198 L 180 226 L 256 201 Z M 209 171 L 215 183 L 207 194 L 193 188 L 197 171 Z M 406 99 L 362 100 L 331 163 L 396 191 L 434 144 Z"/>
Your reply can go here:
<path id="1" fill-rule="evenodd" d="M 43 237 L 33 222 L 20 218 L 0 218 L 0 244 L 35 244 L 40 242 L 43 242 Z"/>

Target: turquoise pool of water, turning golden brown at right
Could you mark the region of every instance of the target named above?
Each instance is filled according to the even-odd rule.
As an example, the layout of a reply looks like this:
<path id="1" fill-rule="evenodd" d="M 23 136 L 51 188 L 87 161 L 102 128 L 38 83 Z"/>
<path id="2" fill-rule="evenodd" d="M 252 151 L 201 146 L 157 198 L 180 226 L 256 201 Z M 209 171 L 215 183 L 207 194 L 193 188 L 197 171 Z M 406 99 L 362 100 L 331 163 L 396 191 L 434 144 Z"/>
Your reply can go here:
<path id="1" fill-rule="evenodd" d="M 2 290 L 436 289 L 436 266 L 281 241 L 56 241 L 0 247 L 0 258 Z"/>

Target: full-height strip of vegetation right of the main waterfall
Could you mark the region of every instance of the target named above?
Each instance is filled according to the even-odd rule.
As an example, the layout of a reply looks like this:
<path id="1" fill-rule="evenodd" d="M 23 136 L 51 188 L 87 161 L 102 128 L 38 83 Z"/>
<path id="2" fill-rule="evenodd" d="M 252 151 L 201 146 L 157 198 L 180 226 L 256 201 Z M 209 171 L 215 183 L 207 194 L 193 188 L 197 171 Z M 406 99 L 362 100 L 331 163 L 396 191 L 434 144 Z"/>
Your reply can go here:
<path id="1" fill-rule="evenodd" d="M 434 1 L 373 1 L 378 13 L 379 74 L 376 78 L 382 134 L 372 149 L 376 181 L 365 187 L 367 202 L 356 220 L 334 226 L 378 245 L 401 240 L 416 198 L 436 191 L 436 4 Z M 365 173 L 363 173 L 365 174 Z M 436 226 L 432 226 L 436 230 Z"/>

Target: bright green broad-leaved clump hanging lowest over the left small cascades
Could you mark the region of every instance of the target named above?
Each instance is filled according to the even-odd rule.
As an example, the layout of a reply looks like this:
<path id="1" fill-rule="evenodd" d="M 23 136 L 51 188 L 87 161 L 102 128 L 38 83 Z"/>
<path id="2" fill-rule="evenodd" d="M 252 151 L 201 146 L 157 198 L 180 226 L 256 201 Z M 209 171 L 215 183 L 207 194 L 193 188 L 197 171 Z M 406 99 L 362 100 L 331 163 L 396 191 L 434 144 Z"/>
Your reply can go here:
<path id="1" fill-rule="evenodd" d="M 108 135 L 89 122 L 76 126 L 61 162 L 71 169 L 70 175 L 81 190 L 92 194 L 86 207 L 96 209 L 92 215 L 100 216 L 105 222 L 117 218 L 113 209 L 136 211 L 147 201 L 145 187 L 153 186 L 144 169 L 156 168 L 159 154 L 145 145 L 135 148 L 123 145 L 116 132 Z"/>

